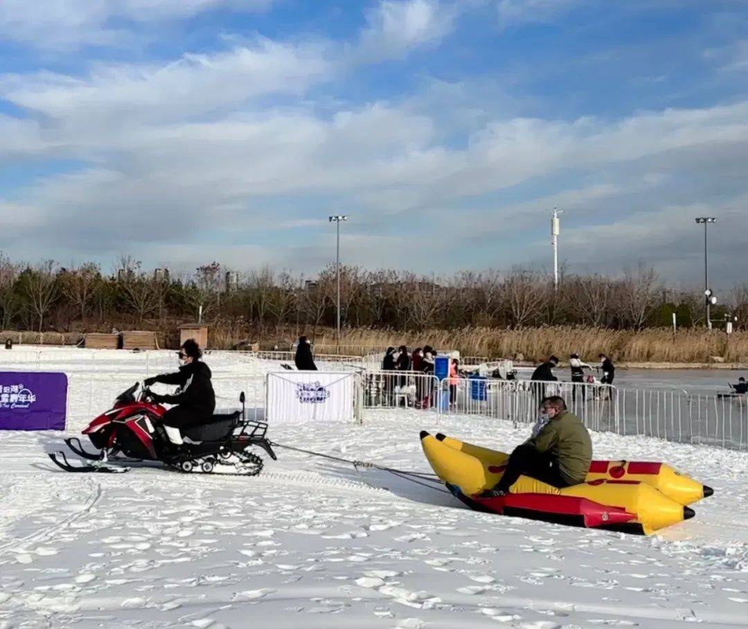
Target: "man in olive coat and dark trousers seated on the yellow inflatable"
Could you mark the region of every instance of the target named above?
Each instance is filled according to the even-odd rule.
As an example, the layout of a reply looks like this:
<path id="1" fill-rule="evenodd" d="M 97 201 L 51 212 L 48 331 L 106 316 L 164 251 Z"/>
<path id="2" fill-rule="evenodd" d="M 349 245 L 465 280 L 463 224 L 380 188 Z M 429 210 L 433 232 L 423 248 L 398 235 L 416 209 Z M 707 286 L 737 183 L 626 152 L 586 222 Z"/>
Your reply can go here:
<path id="1" fill-rule="evenodd" d="M 543 399 L 533 436 L 514 449 L 500 481 L 482 498 L 506 495 L 524 476 L 562 488 L 584 482 L 592 461 L 592 441 L 582 421 L 559 396 Z"/>

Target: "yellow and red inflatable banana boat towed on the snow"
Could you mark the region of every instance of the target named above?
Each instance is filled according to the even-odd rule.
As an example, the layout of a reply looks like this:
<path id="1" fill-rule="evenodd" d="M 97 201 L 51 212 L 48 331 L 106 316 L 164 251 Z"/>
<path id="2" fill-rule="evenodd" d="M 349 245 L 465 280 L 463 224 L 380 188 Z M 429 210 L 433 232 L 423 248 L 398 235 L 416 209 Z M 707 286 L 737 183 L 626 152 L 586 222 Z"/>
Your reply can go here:
<path id="1" fill-rule="evenodd" d="M 426 431 L 420 436 L 426 458 L 447 488 L 484 512 L 649 535 L 693 518 L 686 505 L 713 493 L 666 464 L 592 461 L 583 484 L 559 489 L 520 476 L 506 496 L 481 498 L 477 494 L 501 478 L 509 455 Z"/>

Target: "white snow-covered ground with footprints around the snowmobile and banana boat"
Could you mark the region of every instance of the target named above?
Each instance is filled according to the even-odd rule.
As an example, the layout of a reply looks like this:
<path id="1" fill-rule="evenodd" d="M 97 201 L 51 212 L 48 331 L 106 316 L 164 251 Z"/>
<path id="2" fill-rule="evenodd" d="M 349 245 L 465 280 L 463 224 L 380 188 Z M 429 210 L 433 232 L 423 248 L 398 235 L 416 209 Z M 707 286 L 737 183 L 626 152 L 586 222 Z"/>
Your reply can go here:
<path id="1" fill-rule="evenodd" d="M 211 366 L 234 397 L 269 368 Z M 71 382 L 89 373 L 63 368 Z M 104 410 L 120 378 L 138 377 L 135 365 L 97 369 L 96 387 L 71 385 L 73 405 Z M 269 436 L 429 472 L 421 429 L 500 449 L 527 436 L 402 409 Z M 62 436 L 0 432 L 0 628 L 747 624 L 741 452 L 593 435 L 598 458 L 667 461 L 715 489 L 696 518 L 643 538 L 479 514 L 440 488 L 286 449 L 256 478 L 64 473 L 45 455 Z"/>

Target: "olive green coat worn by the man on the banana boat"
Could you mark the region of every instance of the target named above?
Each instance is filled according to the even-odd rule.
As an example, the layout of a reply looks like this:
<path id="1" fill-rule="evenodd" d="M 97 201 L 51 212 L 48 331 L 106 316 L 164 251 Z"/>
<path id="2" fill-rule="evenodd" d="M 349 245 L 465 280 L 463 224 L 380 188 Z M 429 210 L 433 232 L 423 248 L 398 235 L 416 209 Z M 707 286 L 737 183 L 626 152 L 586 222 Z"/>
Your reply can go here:
<path id="1" fill-rule="evenodd" d="M 561 411 L 529 443 L 558 461 L 566 482 L 571 485 L 584 482 L 592 461 L 592 441 L 582 420 L 574 413 Z"/>

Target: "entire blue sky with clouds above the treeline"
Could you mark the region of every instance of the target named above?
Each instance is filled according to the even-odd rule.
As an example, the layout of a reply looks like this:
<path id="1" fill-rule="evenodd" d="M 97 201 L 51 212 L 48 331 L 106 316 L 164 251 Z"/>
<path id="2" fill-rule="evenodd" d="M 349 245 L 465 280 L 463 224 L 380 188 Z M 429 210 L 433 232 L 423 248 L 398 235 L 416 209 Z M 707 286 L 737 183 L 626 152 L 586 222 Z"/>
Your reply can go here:
<path id="1" fill-rule="evenodd" d="M 0 248 L 743 280 L 742 0 L 4 0 Z M 738 229 L 735 227 L 739 226 Z"/>

